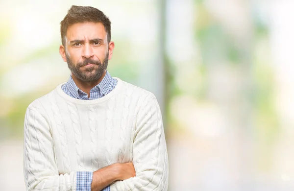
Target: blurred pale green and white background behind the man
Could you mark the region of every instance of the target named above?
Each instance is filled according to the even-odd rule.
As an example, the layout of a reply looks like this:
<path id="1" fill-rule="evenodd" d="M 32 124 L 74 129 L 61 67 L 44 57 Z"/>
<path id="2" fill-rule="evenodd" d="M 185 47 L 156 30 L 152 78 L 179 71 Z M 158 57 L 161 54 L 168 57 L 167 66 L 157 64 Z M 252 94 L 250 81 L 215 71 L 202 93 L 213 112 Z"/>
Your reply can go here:
<path id="1" fill-rule="evenodd" d="M 25 191 L 26 107 L 70 76 L 72 4 L 110 18 L 110 74 L 156 95 L 169 191 L 294 189 L 294 1 L 0 0 L 1 191 Z"/>

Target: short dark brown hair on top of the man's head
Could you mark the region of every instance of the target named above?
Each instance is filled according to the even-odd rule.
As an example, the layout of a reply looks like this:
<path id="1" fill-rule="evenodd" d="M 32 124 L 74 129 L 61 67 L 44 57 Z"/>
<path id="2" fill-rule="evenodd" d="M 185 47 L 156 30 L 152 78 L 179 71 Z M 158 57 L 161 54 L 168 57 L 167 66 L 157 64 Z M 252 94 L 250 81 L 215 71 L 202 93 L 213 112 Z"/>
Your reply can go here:
<path id="1" fill-rule="evenodd" d="M 90 6 L 76 6 L 73 5 L 69 10 L 64 19 L 60 22 L 60 34 L 62 45 L 65 46 L 65 36 L 67 29 L 70 25 L 76 23 L 102 23 L 107 33 L 107 41 L 111 39 L 111 22 L 102 11 L 97 8 Z"/>

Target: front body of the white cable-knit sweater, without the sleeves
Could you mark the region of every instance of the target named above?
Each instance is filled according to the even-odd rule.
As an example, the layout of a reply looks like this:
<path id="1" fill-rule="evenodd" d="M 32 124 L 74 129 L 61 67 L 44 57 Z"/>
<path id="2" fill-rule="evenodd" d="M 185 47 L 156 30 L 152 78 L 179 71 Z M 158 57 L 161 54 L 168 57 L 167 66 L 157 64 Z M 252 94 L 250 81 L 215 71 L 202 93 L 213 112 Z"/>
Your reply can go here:
<path id="1" fill-rule="evenodd" d="M 114 90 L 96 102 L 72 102 L 72 97 L 62 95 L 61 86 L 40 98 L 48 117 L 59 173 L 95 171 L 132 161 L 136 115 L 149 93 L 121 83 L 124 86 L 119 92 Z"/>

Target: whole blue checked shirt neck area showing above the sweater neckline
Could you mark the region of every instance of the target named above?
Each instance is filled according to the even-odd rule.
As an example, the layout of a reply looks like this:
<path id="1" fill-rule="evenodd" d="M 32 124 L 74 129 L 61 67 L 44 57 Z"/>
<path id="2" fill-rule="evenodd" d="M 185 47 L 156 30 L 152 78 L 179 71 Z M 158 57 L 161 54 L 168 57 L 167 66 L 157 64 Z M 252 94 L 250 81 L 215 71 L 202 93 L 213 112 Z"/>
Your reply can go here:
<path id="1" fill-rule="evenodd" d="M 117 83 L 118 80 L 112 78 L 111 75 L 106 71 L 102 81 L 90 90 L 90 98 L 88 98 L 88 95 L 75 85 L 72 76 L 70 77 L 69 81 L 62 86 L 62 90 L 73 98 L 84 100 L 98 99 L 111 92 Z"/>

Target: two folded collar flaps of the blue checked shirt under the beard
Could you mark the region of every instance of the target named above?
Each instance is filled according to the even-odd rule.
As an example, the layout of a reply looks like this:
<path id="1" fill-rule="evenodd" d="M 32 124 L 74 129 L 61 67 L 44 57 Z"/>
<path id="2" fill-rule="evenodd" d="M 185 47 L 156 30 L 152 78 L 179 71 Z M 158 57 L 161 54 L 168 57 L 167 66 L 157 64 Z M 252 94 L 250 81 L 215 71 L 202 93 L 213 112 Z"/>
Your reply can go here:
<path id="1" fill-rule="evenodd" d="M 109 72 L 106 71 L 105 76 L 103 77 L 101 82 L 90 90 L 90 94 L 100 91 L 101 94 L 106 95 L 110 92 L 112 84 L 113 78 L 111 77 Z M 73 81 L 72 75 L 70 76 L 70 79 L 67 83 L 67 88 L 74 98 L 80 98 L 79 92 L 83 92 L 76 86 L 75 82 Z"/>

